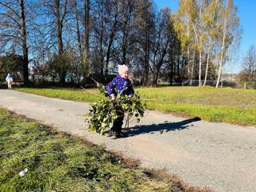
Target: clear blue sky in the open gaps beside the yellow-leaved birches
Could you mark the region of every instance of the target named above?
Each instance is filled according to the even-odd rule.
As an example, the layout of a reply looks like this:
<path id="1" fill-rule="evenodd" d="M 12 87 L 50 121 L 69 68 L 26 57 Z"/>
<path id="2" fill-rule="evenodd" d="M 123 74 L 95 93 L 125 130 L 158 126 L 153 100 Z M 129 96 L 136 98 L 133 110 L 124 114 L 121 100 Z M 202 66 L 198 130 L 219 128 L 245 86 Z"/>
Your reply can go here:
<path id="1" fill-rule="evenodd" d="M 159 7 L 168 6 L 173 12 L 178 10 L 178 0 L 154 0 Z M 251 45 L 256 46 L 256 1 L 254 0 L 234 0 L 234 5 L 238 6 L 238 17 L 242 26 L 241 45 L 232 61 L 225 66 L 228 73 L 238 73 L 242 68 L 242 58 Z"/>

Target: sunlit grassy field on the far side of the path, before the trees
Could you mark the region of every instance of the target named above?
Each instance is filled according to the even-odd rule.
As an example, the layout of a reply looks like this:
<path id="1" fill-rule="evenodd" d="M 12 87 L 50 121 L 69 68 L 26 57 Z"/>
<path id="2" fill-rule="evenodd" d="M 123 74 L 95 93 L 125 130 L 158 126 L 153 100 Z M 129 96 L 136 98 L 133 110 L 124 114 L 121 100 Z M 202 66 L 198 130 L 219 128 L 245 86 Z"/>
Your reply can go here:
<path id="1" fill-rule="evenodd" d="M 53 98 L 97 102 L 98 90 L 28 89 L 18 90 Z M 198 116 L 210 122 L 256 125 L 256 90 L 213 87 L 157 87 L 135 89 L 150 110 L 182 116 Z"/>

